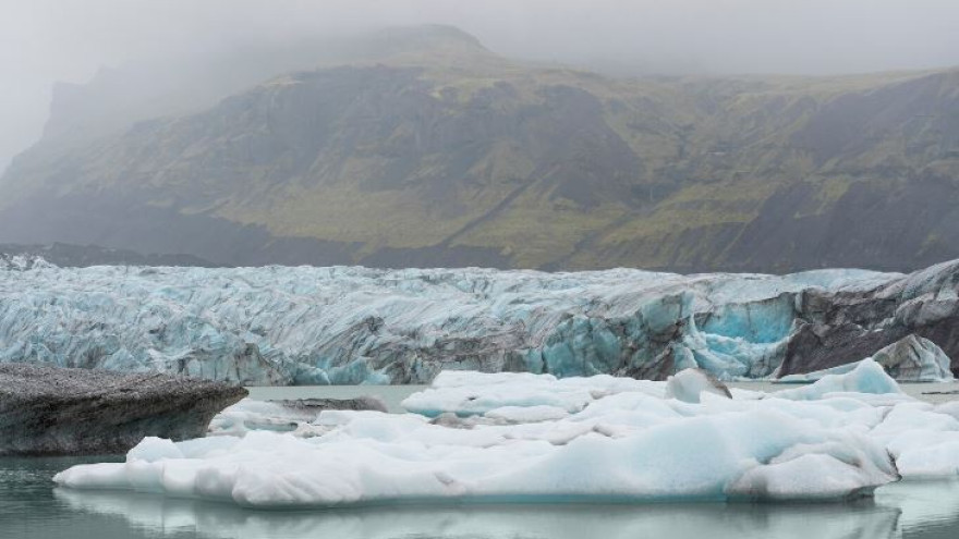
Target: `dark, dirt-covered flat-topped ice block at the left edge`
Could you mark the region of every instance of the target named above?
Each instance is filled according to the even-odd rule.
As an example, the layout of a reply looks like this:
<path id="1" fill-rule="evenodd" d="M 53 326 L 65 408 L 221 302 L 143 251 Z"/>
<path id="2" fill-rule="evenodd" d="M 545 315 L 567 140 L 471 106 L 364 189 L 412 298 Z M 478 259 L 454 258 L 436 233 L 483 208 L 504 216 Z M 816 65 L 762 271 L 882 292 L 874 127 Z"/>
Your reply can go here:
<path id="1" fill-rule="evenodd" d="M 147 436 L 198 438 L 245 395 L 168 375 L 0 364 L 0 455 L 122 453 Z"/>

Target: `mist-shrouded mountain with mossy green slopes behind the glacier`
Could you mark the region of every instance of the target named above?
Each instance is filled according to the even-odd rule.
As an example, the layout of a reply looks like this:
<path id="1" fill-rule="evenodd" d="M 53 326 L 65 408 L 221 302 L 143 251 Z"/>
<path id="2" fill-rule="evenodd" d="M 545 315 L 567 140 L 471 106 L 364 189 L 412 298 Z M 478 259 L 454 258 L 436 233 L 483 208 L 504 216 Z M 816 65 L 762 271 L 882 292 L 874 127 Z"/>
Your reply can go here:
<path id="1" fill-rule="evenodd" d="M 218 89 L 191 108 L 143 98 L 101 122 L 84 103 L 109 99 L 88 96 L 70 123 L 54 97 L 49 135 L 0 179 L 0 241 L 222 265 L 959 257 L 959 71 L 626 79 L 503 59 L 449 27 L 351 44 L 298 49 L 308 69 L 258 84 L 276 61 L 235 84 L 195 70 Z"/>

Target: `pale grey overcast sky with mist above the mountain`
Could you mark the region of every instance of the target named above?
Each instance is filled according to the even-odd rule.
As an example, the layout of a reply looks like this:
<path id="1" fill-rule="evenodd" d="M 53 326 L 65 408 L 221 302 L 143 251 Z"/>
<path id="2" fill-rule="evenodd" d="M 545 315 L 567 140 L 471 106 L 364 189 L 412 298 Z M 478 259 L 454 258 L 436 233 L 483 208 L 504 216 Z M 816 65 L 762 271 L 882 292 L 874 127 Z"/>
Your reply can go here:
<path id="1" fill-rule="evenodd" d="M 0 170 L 39 136 L 54 81 L 417 23 L 460 26 L 505 56 L 651 73 L 959 64 L 959 0 L 0 0 Z"/>

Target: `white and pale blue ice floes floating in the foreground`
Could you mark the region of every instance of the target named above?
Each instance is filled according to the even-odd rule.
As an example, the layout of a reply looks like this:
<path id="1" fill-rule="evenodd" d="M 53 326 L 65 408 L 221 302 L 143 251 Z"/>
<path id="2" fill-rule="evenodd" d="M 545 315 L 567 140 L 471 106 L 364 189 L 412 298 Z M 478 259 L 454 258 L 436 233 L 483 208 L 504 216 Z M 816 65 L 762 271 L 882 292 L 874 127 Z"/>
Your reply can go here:
<path id="1" fill-rule="evenodd" d="M 694 385 L 683 384 L 684 399 Z M 266 507 L 836 500 L 867 495 L 899 471 L 956 474 L 954 411 L 899 393 L 875 362 L 802 391 L 730 399 L 699 385 L 690 403 L 667 397 L 667 382 L 441 373 L 404 403 L 421 414 L 326 411 L 313 421 L 321 436 L 151 438 L 125 463 L 54 480 Z"/>

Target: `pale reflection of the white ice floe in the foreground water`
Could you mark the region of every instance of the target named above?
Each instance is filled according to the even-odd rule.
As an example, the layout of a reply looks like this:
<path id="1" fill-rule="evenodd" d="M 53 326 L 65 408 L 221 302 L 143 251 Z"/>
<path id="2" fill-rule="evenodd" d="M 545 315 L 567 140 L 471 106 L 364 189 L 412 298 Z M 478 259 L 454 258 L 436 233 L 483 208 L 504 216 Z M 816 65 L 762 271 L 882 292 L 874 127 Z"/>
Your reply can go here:
<path id="1" fill-rule="evenodd" d="M 161 537 L 232 538 L 863 538 L 898 537 L 901 511 L 848 504 L 651 504 L 621 506 L 368 507 L 248 511 L 227 504 L 122 492 L 58 489 L 73 511 L 113 515 Z M 916 516 L 920 516 L 916 513 Z"/>

